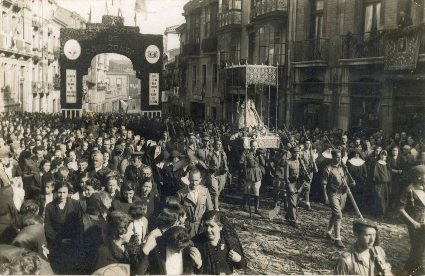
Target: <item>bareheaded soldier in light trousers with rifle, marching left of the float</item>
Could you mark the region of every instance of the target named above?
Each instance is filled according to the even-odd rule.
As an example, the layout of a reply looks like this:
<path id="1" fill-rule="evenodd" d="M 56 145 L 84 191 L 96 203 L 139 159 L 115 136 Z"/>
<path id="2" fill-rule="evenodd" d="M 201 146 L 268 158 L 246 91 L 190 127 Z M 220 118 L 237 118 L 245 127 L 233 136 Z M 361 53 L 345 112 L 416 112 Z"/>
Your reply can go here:
<path id="1" fill-rule="evenodd" d="M 223 143 L 219 138 L 214 139 L 214 144 L 212 144 L 214 150 L 208 153 L 207 160 L 205 164 L 208 167 L 208 189 L 210 190 L 210 195 L 213 198 L 213 204 L 215 210 L 218 209 L 218 196 L 220 192 L 224 189 L 224 184 L 226 184 L 227 177 L 227 156 L 223 150 Z"/>

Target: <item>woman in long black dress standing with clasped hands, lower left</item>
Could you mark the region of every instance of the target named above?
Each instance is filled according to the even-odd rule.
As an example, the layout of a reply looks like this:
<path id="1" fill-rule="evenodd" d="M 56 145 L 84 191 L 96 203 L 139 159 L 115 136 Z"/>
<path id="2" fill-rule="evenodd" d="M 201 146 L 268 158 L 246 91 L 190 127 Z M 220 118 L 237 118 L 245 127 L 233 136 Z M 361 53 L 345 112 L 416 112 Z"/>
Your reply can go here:
<path id="1" fill-rule="evenodd" d="M 78 273 L 81 248 L 81 212 L 78 201 L 68 198 L 66 182 L 55 185 L 57 198 L 46 205 L 45 235 L 49 259 L 57 274 Z"/>

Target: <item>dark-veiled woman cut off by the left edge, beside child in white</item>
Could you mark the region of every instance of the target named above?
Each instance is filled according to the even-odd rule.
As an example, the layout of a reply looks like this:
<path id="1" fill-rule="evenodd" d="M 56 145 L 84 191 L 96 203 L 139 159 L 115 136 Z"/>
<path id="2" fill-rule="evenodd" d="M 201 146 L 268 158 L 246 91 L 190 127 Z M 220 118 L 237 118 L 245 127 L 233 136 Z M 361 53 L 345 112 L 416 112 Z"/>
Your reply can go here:
<path id="1" fill-rule="evenodd" d="M 11 244 L 18 234 L 18 210 L 13 193 L 11 186 L 0 188 L 0 244 Z"/>

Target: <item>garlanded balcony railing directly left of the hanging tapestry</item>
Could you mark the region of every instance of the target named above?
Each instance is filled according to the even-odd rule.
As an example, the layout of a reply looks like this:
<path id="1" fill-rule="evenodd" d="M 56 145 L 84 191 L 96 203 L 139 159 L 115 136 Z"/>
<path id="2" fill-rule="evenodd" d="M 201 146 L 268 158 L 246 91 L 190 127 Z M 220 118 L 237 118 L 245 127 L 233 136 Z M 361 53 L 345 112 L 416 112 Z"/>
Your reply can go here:
<path id="1" fill-rule="evenodd" d="M 348 33 L 341 36 L 341 58 L 358 59 L 385 55 L 385 39 L 382 31 Z"/>

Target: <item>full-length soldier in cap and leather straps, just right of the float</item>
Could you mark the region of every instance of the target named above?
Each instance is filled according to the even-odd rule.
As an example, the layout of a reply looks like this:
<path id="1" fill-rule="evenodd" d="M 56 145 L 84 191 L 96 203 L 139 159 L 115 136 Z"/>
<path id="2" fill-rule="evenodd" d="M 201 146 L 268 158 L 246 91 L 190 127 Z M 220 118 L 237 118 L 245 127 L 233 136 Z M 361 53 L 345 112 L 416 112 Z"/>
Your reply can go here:
<path id="1" fill-rule="evenodd" d="M 286 193 L 289 195 L 288 212 L 285 219 L 292 223 L 294 228 L 298 228 L 297 204 L 299 195 L 303 188 L 303 170 L 300 160 L 300 146 L 293 146 L 289 149 L 292 156 L 283 167 L 283 178 L 286 184 Z"/>

